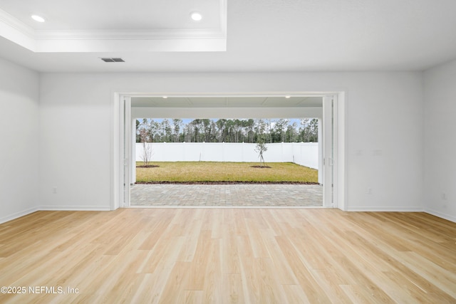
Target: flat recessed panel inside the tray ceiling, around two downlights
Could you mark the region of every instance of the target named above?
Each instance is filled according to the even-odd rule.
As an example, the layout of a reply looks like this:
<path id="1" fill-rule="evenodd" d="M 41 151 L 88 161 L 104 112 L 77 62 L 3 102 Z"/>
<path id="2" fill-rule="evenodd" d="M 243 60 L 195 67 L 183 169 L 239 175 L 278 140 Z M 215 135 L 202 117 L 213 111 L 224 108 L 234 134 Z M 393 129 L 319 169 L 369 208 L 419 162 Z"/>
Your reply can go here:
<path id="1" fill-rule="evenodd" d="M 0 9 L 36 30 L 138 30 L 217 28 L 220 2 L 215 0 L 166 1 L 86 1 L 86 0 L 2 0 Z M 199 11 L 202 21 L 188 18 Z M 214 14 L 215 13 L 215 14 Z M 36 23 L 30 16 L 43 16 L 45 23 Z"/>

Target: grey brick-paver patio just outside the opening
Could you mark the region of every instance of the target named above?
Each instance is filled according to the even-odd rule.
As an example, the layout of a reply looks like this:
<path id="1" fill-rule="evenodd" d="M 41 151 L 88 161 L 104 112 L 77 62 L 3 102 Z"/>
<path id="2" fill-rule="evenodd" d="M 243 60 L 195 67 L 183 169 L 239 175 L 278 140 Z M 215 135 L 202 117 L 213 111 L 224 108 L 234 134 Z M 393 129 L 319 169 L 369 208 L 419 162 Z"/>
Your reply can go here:
<path id="1" fill-rule="evenodd" d="M 315 184 L 135 184 L 131 206 L 305 206 L 323 205 Z"/>

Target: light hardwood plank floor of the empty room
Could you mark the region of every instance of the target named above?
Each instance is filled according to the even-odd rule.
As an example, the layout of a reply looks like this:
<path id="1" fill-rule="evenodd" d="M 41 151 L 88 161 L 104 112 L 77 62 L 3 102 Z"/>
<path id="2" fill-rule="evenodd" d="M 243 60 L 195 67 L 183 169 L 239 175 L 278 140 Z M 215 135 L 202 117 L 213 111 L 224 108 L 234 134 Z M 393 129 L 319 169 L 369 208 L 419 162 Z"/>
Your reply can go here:
<path id="1" fill-rule="evenodd" d="M 0 303 L 456 303 L 456 224 L 337 209 L 38 211 L 0 225 L 0 286 L 26 287 Z M 41 286 L 65 294 L 28 289 Z"/>

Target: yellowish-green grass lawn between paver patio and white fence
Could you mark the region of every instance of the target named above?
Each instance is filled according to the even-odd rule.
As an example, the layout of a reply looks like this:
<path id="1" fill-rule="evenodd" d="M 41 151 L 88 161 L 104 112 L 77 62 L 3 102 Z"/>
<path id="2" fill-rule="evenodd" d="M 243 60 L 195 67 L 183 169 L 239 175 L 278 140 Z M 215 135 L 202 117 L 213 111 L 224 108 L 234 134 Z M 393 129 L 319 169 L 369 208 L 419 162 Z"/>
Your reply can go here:
<path id="1" fill-rule="evenodd" d="M 142 162 L 137 162 L 142 166 Z M 150 162 L 136 168 L 137 182 L 301 182 L 318 183 L 318 171 L 291 162 Z"/>

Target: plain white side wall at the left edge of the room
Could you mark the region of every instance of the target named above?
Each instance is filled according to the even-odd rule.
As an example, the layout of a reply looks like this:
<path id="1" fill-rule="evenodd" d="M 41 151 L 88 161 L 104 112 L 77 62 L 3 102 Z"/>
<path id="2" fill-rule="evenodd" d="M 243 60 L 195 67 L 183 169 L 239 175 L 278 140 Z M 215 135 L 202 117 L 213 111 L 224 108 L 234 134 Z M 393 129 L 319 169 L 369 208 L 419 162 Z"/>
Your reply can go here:
<path id="1" fill-rule="evenodd" d="M 0 223 L 38 209 L 38 73 L 0 58 Z"/>

